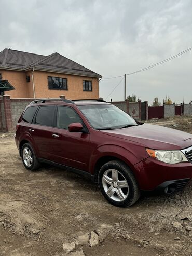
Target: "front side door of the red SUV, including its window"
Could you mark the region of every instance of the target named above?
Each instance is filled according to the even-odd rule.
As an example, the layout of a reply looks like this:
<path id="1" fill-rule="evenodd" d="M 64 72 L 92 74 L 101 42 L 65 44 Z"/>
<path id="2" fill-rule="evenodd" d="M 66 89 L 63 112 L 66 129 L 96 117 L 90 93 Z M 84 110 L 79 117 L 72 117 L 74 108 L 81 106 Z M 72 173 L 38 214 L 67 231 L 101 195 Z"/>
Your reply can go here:
<path id="1" fill-rule="evenodd" d="M 52 129 L 52 160 L 56 163 L 88 171 L 90 134 L 88 132 L 69 132 L 68 125 L 76 122 L 83 124 L 72 107 L 58 106 L 57 127 Z"/>

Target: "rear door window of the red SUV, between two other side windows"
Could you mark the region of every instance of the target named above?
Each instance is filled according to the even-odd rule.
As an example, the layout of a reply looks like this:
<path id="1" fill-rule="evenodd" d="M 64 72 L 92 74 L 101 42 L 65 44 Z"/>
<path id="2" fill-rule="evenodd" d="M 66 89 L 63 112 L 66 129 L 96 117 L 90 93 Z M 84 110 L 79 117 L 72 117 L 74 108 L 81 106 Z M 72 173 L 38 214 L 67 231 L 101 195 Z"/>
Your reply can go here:
<path id="1" fill-rule="evenodd" d="M 35 124 L 53 126 L 54 106 L 40 106 L 36 115 Z"/>

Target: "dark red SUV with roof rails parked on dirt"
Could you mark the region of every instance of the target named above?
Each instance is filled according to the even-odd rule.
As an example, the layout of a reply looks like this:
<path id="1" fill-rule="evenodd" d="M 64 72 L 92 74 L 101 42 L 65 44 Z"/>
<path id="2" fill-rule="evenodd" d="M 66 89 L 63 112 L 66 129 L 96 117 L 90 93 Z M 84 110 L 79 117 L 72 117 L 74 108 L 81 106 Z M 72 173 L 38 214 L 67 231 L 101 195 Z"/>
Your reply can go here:
<path id="1" fill-rule="evenodd" d="M 23 164 L 64 167 L 98 182 L 120 207 L 140 191 L 182 190 L 192 177 L 192 135 L 143 124 L 102 100 L 36 100 L 22 113 L 16 144 Z"/>

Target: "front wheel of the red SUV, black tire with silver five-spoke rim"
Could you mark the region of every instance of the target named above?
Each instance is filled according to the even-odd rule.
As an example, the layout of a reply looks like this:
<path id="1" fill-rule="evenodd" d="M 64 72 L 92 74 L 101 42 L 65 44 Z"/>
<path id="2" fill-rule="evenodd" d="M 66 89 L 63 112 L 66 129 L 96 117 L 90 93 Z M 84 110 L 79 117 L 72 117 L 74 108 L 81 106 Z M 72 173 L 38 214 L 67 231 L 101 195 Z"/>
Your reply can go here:
<path id="1" fill-rule="evenodd" d="M 117 173 L 118 180 L 114 182 L 115 173 Z M 120 160 L 113 160 L 104 164 L 99 171 L 98 182 L 103 196 L 112 205 L 129 207 L 140 197 L 139 185 L 131 169 Z M 122 187 L 124 185 L 125 187 Z M 107 193 L 111 193 L 110 196 Z"/>

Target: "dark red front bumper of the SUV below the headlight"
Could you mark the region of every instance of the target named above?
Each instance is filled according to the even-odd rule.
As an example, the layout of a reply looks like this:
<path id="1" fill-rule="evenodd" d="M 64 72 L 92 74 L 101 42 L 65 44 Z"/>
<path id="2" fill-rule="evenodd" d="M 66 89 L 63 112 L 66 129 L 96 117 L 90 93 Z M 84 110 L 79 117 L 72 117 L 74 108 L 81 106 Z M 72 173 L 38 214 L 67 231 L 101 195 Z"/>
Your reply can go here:
<path id="1" fill-rule="evenodd" d="M 179 180 L 186 180 L 187 183 L 192 178 L 192 164 L 166 164 L 152 157 L 148 157 L 140 163 L 133 166 L 136 179 L 138 180 L 141 190 L 153 191 L 158 190 L 158 187 L 166 187 L 168 183 L 175 183 L 175 187 L 181 189 L 182 182 L 179 185 Z M 186 183 L 186 184 L 187 184 Z M 178 185 L 177 185 L 178 184 Z M 169 185 L 169 184 L 168 184 Z"/>

